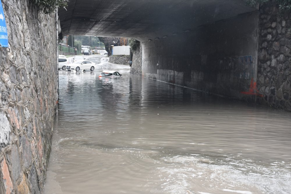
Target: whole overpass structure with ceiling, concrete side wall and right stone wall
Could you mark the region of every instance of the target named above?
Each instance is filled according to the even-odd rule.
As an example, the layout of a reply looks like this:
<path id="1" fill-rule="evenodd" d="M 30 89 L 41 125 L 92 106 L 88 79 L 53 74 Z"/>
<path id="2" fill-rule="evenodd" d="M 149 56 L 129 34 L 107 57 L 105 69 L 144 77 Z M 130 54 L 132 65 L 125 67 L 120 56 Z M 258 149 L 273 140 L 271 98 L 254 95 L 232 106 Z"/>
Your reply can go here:
<path id="1" fill-rule="evenodd" d="M 291 109 L 290 14 L 277 13 L 244 0 L 70 0 L 58 10 L 63 35 L 140 41 L 134 74 Z"/>

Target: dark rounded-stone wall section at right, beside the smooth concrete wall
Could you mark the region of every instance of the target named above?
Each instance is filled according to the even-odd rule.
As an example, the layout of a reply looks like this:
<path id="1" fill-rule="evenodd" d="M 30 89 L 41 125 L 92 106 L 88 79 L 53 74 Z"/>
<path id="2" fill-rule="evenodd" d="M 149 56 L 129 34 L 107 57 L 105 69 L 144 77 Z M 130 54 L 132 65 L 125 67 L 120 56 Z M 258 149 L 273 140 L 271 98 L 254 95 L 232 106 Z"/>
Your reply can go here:
<path id="1" fill-rule="evenodd" d="M 291 111 L 291 13 L 276 4 L 260 8 L 258 56 L 259 104 Z"/>

